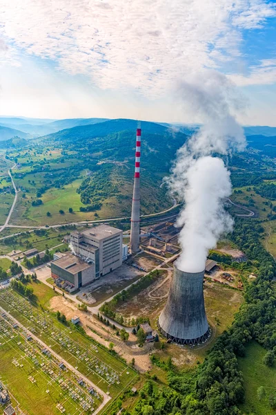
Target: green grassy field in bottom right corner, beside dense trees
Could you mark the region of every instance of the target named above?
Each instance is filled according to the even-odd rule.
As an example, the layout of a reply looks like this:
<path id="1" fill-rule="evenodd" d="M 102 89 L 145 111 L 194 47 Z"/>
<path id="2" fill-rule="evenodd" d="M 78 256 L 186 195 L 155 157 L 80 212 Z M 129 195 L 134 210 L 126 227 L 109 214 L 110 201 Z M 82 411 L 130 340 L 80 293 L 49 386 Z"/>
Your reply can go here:
<path id="1" fill-rule="evenodd" d="M 246 357 L 239 358 L 239 369 L 244 374 L 246 400 L 241 409 L 244 414 L 273 415 L 275 411 L 268 404 L 271 392 L 276 392 L 276 366 L 267 367 L 262 362 L 266 350 L 256 342 L 246 347 Z M 266 396 L 261 401 L 257 397 L 257 388 L 263 386 Z"/>

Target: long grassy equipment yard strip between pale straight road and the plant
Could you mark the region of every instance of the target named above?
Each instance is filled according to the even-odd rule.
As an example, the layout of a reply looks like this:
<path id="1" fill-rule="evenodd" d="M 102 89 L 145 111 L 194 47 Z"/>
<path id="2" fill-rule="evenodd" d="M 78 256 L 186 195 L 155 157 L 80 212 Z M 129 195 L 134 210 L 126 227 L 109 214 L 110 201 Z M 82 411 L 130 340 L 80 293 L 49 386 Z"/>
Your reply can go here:
<path id="1" fill-rule="evenodd" d="M 102 391 L 109 392 L 110 396 L 117 396 L 137 376 L 124 362 L 80 333 L 75 326 L 59 322 L 55 315 L 28 302 L 18 293 L 2 290 L 0 306 L 37 335 L 52 351 L 77 367 L 83 376 Z"/>

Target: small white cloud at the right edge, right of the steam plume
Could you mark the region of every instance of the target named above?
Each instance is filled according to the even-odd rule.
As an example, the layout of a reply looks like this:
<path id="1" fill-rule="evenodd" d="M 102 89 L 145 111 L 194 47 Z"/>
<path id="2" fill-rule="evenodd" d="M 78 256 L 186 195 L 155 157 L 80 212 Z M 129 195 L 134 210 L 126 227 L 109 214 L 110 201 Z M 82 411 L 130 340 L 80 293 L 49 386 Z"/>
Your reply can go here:
<path id="1" fill-rule="evenodd" d="M 228 75 L 238 86 L 270 85 L 276 82 L 276 59 L 264 59 L 257 66 L 249 68 L 249 75 Z"/>

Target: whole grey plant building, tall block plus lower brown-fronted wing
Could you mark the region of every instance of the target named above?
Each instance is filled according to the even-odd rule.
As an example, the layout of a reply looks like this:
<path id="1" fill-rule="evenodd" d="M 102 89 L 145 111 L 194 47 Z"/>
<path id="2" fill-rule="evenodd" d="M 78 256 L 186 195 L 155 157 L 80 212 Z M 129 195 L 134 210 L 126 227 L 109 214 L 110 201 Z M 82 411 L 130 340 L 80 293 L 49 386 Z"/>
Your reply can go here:
<path id="1" fill-rule="evenodd" d="M 69 293 L 121 266 L 127 250 L 123 231 L 99 225 L 82 232 L 72 232 L 69 255 L 55 255 L 51 263 L 52 278 Z"/>

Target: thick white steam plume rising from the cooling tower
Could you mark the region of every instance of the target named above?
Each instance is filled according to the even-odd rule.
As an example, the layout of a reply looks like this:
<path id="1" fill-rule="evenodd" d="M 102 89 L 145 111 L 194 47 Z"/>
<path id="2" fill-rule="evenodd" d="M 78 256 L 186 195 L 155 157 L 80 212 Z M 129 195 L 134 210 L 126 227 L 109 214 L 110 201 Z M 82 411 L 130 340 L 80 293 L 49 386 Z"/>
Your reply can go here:
<path id="1" fill-rule="evenodd" d="M 197 111 L 203 126 L 177 152 L 168 183 L 172 194 L 184 202 L 177 219 L 181 255 L 180 270 L 197 273 L 205 268 L 208 250 L 233 227 L 233 219 L 224 210 L 231 194 L 230 172 L 218 154 L 230 155 L 246 146 L 242 127 L 231 109 L 239 109 L 235 89 L 224 75 L 205 71 L 197 79 L 182 82 L 178 94 Z"/>

